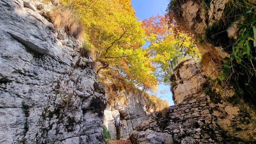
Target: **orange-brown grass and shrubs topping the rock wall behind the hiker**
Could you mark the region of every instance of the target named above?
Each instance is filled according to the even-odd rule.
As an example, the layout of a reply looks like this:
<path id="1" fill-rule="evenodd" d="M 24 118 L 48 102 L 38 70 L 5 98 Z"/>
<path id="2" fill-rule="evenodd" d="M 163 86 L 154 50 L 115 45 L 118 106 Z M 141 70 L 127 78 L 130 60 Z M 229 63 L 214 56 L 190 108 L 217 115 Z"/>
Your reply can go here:
<path id="1" fill-rule="evenodd" d="M 118 97 L 119 93 L 141 95 L 146 102 L 146 109 L 148 112 L 151 110 L 159 111 L 169 106 L 166 100 L 161 100 L 155 95 L 150 95 L 140 89 L 136 88 L 132 83 L 128 83 L 124 77 L 118 73 L 118 71 L 111 68 L 102 70 L 102 75 L 99 75 L 99 81 L 105 86 L 105 90 L 108 93 L 107 103 L 113 105 L 116 102 L 124 103 L 127 105 L 129 100 L 120 101 L 121 97 Z M 139 99 L 135 98 L 137 101 Z M 142 102 L 141 102 L 142 103 Z"/>

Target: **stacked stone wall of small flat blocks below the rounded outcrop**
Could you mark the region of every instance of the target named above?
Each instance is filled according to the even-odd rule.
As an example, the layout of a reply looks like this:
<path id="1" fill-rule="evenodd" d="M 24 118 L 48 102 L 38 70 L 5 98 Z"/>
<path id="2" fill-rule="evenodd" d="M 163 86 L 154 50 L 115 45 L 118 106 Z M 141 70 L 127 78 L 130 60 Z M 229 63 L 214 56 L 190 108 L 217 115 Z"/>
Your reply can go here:
<path id="1" fill-rule="evenodd" d="M 168 133 L 174 143 L 222 143 L 225 132 L 219 128 L 210 113 L 209 96 L 171 106 L 164 111 L 153 113 L 151 119 L 136 127 L 137 131 L 147 129 Z"/>

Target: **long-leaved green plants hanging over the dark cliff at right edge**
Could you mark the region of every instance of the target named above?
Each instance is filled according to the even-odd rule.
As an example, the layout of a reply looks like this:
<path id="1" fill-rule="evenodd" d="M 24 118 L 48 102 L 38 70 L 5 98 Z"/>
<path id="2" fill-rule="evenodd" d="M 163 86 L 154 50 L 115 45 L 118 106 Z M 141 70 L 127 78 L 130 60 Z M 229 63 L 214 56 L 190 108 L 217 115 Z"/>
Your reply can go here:
<path id="1" fill-rule="evenodd" d="M 255 4 L 252 0 L 229 0 L 225 5 L 223 16 L 206 29 L 207 41 L 215 46 L 222 46 L 231 55 L 223 59 L 216 78 L 207 81 L 210 88 L 204 90 L 206 93 L 215 92 L 222 95 L 224 89 L 234 86 L 237 94 L 241 95 L 241 91 L 246 89 L 253 97 L 254 92 L 246 86 L 252 84 L 250 81 L 256 74 Z M 226 32 L 233 23 L 238 26 L 235 40 L 229 39 Z"/>

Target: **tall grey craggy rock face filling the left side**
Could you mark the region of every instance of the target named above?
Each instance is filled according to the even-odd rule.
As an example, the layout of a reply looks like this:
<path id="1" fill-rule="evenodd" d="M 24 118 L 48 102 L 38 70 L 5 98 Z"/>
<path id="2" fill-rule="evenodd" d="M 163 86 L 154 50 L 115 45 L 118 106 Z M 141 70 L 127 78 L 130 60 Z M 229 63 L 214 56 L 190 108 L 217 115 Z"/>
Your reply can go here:
<path id="1" fill-rule="evenodd" d="M 39 5 L 0 2 L 0 143 L 104 143 L 107 104 L 92 57 Z"/>

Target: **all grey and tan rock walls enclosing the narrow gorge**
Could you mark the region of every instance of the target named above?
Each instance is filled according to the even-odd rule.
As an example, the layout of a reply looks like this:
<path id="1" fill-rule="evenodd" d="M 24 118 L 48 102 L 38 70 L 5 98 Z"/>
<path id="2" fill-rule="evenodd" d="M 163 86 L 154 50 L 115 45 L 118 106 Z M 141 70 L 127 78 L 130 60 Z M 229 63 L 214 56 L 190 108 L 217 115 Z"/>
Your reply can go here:
<path id="1" fill-rule="evenodd" d="M 126 127 L 122 139 L 132 144 L 256 143 L 255 76 L 248 81 L 241 73 L 240 85 L 225 89 L 209 81 L 219 77 L 223 59 L 231 57 L 225 46 L 236 38 L 236 23 L 201 42 L 228 1 L 207 1 L 207 9 L 202 3 L 185 0 L 175 7 L 182 11 L 177 19 L 199 37 L 202 59 L 187 58 L 176 66 L 170 78 L 175 106 L 159 110 L 138 88 L 104 87 L 112 81 L 98 75 L 82 39 L 52 23 L 54 4 L 1 0 L 0 143 L 104 144 L 103 125 L 115 139 L 116 117 Z M 109 102 L 113 93 L 115 101 Z"/>

